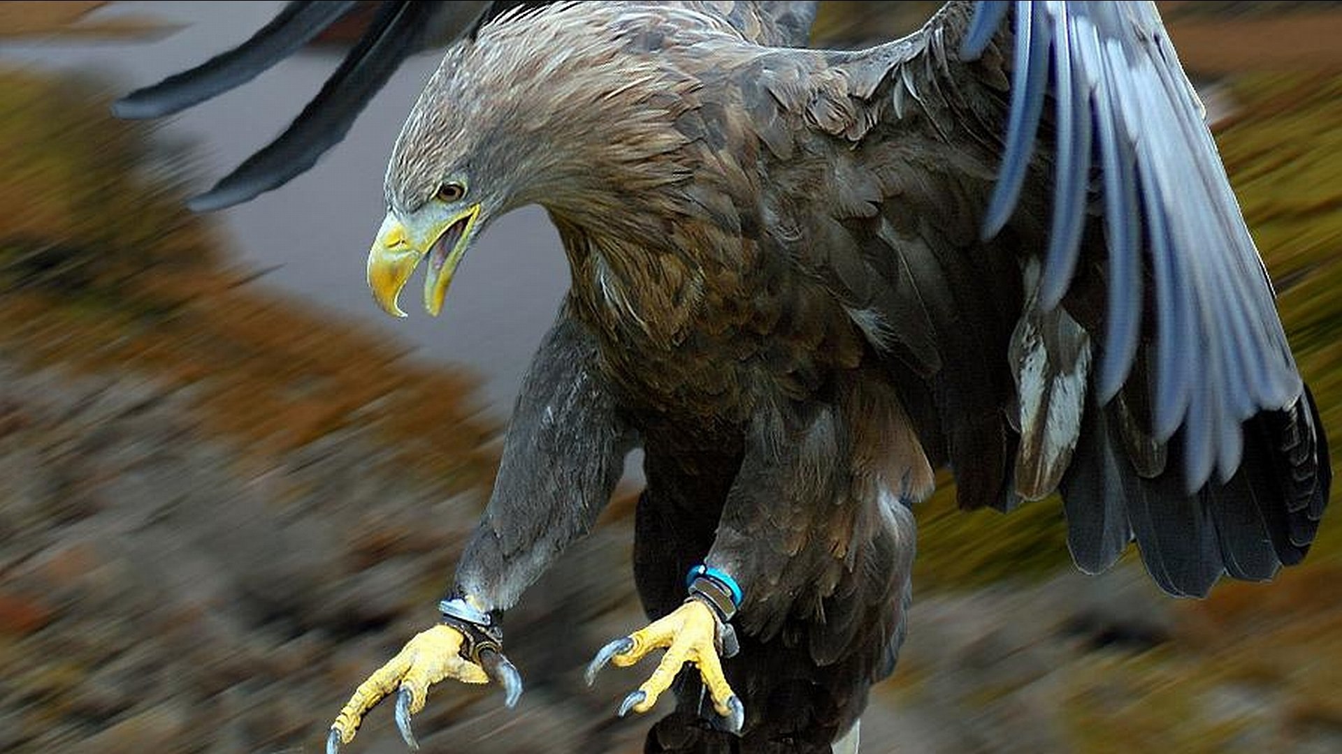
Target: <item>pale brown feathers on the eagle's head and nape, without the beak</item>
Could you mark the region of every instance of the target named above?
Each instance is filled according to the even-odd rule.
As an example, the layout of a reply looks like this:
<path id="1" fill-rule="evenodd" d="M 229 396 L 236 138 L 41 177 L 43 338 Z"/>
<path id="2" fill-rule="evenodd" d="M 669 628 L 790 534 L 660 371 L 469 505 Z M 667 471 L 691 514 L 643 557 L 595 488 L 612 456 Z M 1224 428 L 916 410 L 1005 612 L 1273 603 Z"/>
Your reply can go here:
<path id="1" fill-rule="evenodd" d="M 560 3 L 458 43 L 396 142 L 388 204 L 413 211 L 444 180 L 464 180 L 488 215 L 535 203 L 576 220 L 636 217 L 631 201 L 688 177 L 674 122 L 698 82 L 658 54 L 664 38 L 648 36 L 650 20 L 668 36 L 705 34 L 683 31 L 705 28 L 705 16 L 671 17 L 684 13 Z"/>

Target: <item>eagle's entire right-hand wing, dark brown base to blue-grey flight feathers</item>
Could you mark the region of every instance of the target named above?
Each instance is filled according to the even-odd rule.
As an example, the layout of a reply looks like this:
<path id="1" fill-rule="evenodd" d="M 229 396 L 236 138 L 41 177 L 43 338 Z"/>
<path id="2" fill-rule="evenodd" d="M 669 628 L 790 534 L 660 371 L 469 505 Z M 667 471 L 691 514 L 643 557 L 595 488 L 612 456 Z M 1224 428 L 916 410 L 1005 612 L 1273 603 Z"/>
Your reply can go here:
<path id="1" fill-rule="evenodd" d="M 764 55 L 760 86 L 831 140 L 837 225 L 808 263 L 875 345 L 937 368 L 906 400 L 964 504 L 1059 490 L 1082 568 L 1135 535 L 1180 594 L 1270 577 L 1312 539 L 1327 451 L 1154 7 L 973 5 L 862 52 Z"/>

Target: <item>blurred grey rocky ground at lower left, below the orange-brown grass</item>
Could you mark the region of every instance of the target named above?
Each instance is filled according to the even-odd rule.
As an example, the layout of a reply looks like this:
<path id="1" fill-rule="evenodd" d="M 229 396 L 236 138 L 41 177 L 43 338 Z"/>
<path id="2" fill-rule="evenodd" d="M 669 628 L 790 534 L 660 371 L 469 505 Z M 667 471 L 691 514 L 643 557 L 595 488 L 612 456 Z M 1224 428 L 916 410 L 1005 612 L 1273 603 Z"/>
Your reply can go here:
<path id="1" fill-rule="evenodd" d="M 192 413 L 150 380 L 0 361 L 0 750 L 315 749 L 342 696 L 435 618 L 478 498 L 436 496 L 357 428 L 258 463 Z M 443 688 L 427 747 L 636 734 L 607 730 L 617 688 L 580 694 L 564 672 L 619 631 L 624 541 L 590 538 L 509 616 L 521 710 Z M 401 750 L 381 712 L 361 750 Z"/>

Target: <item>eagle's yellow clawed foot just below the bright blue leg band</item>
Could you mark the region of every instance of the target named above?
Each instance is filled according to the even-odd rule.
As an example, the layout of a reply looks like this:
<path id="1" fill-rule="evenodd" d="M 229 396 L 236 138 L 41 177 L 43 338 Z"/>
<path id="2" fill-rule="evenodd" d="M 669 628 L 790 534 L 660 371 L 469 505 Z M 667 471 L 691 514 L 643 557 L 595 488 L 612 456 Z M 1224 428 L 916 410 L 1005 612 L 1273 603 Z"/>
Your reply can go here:
<path id="1" fill-rule="evenodd" d="M 680 672 L 680 665 L 694 663 L 699 669 L 699 678 L 703 679 L 705 688 L 713 696 L 713 707 L 726 718 L 727 730 L 741 733 L 741 726 L 745 723 L 745 707 L 727 686 L 726 676 L 722 675 L 717 637 L 717 616 L 703 602 L 688 600 L 664 618 L 603 647 L 588 665 L 588 686 L 596 680 L 597 671 L 607 663 L 625 668 L 641 660 L 652 649 L 666 649 L 666 655 L 658 663 L 658 669 L 652 671 L 652 675 L 643 682 L 637 691 L 624 698 L 620 704 L 620 716 L 623 718 L 629 710 L 635 712 L 651 710 L 658 703 L 658 696 L 671 687 L 671 682 Z"/>

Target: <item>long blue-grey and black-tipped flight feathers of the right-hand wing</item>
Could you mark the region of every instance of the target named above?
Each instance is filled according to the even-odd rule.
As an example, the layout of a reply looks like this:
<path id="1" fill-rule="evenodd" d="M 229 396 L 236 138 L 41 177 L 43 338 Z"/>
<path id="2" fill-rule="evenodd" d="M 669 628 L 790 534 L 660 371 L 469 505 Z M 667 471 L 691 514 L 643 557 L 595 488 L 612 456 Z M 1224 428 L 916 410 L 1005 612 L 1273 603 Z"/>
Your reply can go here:
<path id="1" fill-rule="evenodd" d="M 1326 439 L 1197 94 L 1151 3 L 980 3 L 961 58 L 978 59 L 1009 12 L 1011 115 L 984 232 L 1011 220 L 1040 144 L 1053 165 L 1039 184 L 1052 211 L 1036 306 L 1059 306 L 1087 263 L 1104 301 L 1087 421 L 1062 479 L 1072 551 L 1106 568 L 1126 513 L 1172 592 L 1205 593 L 1223 568 L 1267 578 L 1314 538 Z M 1092 200 L 1103 232 L 1086 240 Z M 1159 468 L 1162 445 L 1182 468 Z"/>

